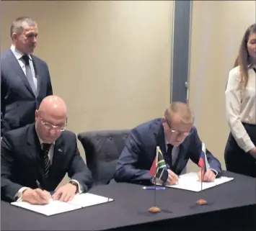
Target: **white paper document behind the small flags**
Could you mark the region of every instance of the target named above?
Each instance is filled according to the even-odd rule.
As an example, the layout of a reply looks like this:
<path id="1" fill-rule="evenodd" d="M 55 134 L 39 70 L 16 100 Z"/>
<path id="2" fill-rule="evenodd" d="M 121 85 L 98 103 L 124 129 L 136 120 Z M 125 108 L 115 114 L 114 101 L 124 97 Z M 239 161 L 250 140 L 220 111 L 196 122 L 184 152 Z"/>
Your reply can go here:
<path id="1" fill-rule="evenodd" d="M 203 182 L 203 190 L 209 189 L 220 184 L 224 184 L 228 181 L 232 181 L 234 178 L 221 176 L 216 178 L 213 182 Z M 160 182 L 156 183 L 157 185 L 162 185 Z M 186 173 L 179 176 L 179 183 L 175 185 L 164 184 L 166 187 L 175 188 L 175 189 L 185 189 L 189 191 L 201 191 L 201 182 L 198 180 L 198 173 Z"/>

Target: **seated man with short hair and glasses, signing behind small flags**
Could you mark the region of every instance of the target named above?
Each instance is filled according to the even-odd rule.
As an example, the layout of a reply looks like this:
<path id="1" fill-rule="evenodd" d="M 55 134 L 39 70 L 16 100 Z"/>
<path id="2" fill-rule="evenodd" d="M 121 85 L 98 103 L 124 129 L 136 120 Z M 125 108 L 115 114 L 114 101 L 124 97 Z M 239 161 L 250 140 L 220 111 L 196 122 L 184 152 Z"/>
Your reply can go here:
<path id="1" fill-rule="evenodd" d="M 193 127 L 193 115 L 187 104 L 174 102 L 164 112 L 164 117 L 138 125 L 131 131 L 115 170 L 117 182 L 151 184 L 149 170 L 159 146 L 167 165 L 167 181 L 176 184 L 178 175 L 188 159 L 198 164 L 202 142 Z M 206 150 L 210 168 L 200 180 L 213 181 L 221 173 L 219 160 Z"/>

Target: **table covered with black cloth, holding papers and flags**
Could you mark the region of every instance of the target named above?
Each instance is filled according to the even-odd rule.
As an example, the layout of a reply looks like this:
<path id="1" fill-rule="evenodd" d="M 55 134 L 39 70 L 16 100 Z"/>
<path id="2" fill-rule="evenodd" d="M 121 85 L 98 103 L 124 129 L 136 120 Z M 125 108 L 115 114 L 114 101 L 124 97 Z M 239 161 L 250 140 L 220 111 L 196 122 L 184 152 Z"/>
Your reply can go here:
<path id="1" fill-rule="evenodd" d="M 229 172 L 224 175 L 234 180 L 201 193 L 156 191 L 157 206 L 162 209 L 158 214 L 147 211 L 154 191 L 123 183 L 90 191 L 115 201 L 50 217 L 1 201 L 1 230 L 256 230 L 256 179 Z M 208 205 L 195 205 L 200 198 Z"/>

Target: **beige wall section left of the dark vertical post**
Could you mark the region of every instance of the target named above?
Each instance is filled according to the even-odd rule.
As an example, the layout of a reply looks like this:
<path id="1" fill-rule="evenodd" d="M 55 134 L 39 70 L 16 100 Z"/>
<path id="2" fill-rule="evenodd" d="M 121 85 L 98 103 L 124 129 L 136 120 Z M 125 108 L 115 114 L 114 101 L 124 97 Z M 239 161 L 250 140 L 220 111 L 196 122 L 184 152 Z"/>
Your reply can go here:
<path id="1" fill-rule="evenodd" d="M 12 20 L 33 17 L 35 55 L 68 105 L 69 130 L 131 128 L 169 104 L 172 10 L 173 1 L 1 1 L 1 50 Z"/>

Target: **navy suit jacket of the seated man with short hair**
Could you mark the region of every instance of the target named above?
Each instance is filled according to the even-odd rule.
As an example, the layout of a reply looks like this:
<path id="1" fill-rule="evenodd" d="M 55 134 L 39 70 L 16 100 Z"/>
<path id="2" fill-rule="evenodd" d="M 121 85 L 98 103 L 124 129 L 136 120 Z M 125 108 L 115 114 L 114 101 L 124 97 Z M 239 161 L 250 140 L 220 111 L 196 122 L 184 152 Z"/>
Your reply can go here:
<path id="1" fill-rule="evenodd" d="M 195 127 L 193 133 L 186 137 L 179 146 L 179 153 L 175 168 L 172 169 L 178 175 L 187 165 L 190 158 L 198 164 L 202 142 L 198 137 Z M 125 148 L 120 155 L 114 178 L 118 182 L 131 182 L 137 184 L 149 184 L 152 178 L 149 169 L 156 156 L 156 146 L 159 146 L 163 155 L 166 153 L 164 129 L 161 119 L 154 119 L 139 125 L 131 131 Z M 208 163 L 218 173 L 221 172 L 221 163 L 207 150 Z"/>

